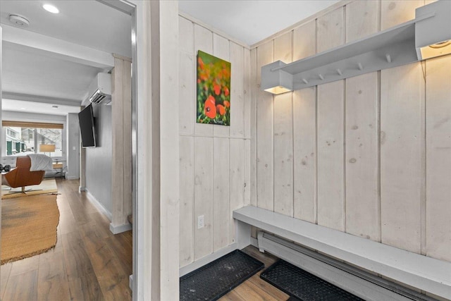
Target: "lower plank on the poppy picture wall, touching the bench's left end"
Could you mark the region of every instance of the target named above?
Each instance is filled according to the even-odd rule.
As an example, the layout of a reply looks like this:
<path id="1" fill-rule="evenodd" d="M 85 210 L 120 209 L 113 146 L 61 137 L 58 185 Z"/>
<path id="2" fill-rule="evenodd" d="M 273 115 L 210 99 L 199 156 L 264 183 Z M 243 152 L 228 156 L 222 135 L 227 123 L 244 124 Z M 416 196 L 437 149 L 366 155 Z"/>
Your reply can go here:
<path id="1" fill-rule="evenodd" d="M 245 204 L 245 142 L 248 140 L 230 139 L 230 243 L 235 242 L 235 223 L 233 210 Z"/>

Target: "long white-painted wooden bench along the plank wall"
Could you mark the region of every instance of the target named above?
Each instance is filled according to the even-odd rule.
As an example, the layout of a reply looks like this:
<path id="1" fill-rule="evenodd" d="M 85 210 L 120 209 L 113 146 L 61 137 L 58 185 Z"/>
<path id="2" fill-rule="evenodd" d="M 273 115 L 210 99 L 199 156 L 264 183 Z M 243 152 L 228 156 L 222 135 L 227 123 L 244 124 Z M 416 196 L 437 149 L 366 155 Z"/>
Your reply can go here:
<path id="1" fill-rule="evenodd" d="M 239 247 L 250 244 L 250 226 L 255 226 L 362 269 L 451 300 L 450 262 L 253 206 L 233 211 L 233 218 Z"/>

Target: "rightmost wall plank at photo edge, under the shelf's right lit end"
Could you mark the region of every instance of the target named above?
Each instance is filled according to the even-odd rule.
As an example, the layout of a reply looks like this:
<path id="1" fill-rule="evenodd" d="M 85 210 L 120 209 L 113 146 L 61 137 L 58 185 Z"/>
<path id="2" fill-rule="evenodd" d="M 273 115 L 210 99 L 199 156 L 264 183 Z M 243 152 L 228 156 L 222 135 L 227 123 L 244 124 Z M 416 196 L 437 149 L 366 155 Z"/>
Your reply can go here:
<path id="1" fill-rule="evenodd" d="M 451 56 L 426 61 L 426 255 L 451 262 Z"/>

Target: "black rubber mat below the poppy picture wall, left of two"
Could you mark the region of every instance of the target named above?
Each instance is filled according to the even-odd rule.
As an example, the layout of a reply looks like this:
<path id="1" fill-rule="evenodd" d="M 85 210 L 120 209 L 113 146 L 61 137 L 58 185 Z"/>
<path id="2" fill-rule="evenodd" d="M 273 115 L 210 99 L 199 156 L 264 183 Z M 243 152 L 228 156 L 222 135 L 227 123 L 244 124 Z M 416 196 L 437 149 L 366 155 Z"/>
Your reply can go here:
<path id="1" fill-rule="evenodd" d="M 230 252 L 180 277 L 180 300 L 218 300 L 264 266 L 240 250 Z"/>

